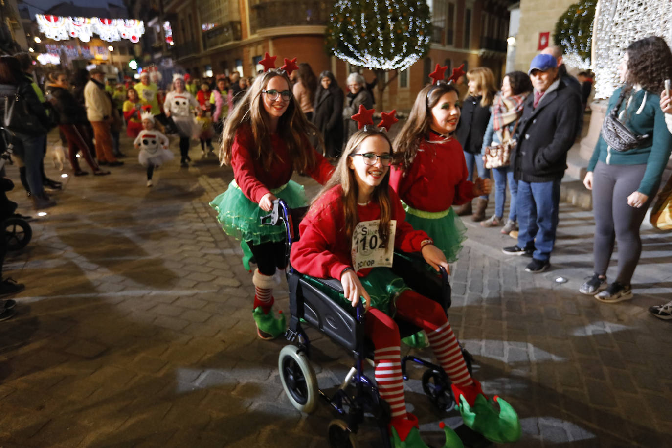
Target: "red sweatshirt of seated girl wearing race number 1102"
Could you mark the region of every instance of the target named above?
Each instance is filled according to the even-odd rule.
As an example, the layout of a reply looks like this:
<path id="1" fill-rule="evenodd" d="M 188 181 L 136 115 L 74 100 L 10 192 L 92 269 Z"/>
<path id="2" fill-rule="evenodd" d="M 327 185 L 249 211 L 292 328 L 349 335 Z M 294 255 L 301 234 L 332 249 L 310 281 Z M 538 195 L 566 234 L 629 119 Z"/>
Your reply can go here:
<path id="1" fill-rule="evenodd" d="M 318 278 L 341 279 L 341 272 L 352 267 L 351 241 L 345 236 L 343 213 L 343 188 L 337 185 L 322 195 L 310 208 L 299 224 L 301 238 L 292 244 L 290 261 L 300 273 Z M 423 230 L 413 230 L 405 221 L 406 212 L 396 193 L 390 189 L 392 219 L 396 220 L 394 247 L 404 252 L 419 252 L 421 242 L 430 239 Z M 380 206 L 369 203 L 357 206 L 360 221 L 380 219 Z M 360 269 L 358 275 L 366 276 L 371 269 Z"/>

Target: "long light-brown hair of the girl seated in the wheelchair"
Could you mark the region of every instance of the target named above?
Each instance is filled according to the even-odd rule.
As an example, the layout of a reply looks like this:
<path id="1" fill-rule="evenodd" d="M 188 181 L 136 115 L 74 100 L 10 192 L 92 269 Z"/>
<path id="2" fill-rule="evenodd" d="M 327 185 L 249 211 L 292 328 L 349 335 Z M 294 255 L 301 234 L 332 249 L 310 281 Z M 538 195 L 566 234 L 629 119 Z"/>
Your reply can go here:
<path id="1" fill-rule="evenodd" d="M 319 210 L 313 210 L 314 204 L 317 200 L 327 191 L 335 187 L 336 185 L 341 185 L 343 189 L 343 216 L 345 217 L 345 233 L 347 234 L 348 240 L 352 238 L 352 232 L 355 230 L 359 222 L 359 217 L 357 214 L 357 197 L 360 192 L 357 179 L 355 178 L 356 174 L 353 169 L 348 167 L 348 159 L 350 154 L 354 154 L 360 149 L 362 142 L 370 137 L 382 137 L 390 145 L 390 152 L 392 152 L 392 142 L 388 138 L 385 132 L 378 130 L 372 130 L 370 128 L 359 130 L 352 134 L 347 144 L 345 145 L 345 150 L 339 159 L 336 169 L 331 175 L 331 178 L 325 185 L 322 187 L 320 193 L 312 200 L 310 204 L 312 214 L 319 214 Z M 390 170 L 387 170 L 387 173 L 383 177 L 382 181 L 374 188 L 372 194 L 372 201 L 378 203 L 380 206 L 380 225 L 378 226 L 378 234 L 380 235 L 380 240 L 382 241 L 383 246 L 388 244 L 390 239 L 390 220 L 392 219 L 392 205 L 390 202 L 390 192 L 389 192 L 389 183 L 390 183 Z M 309 213 L 310 213 L 309 212 Z"/>

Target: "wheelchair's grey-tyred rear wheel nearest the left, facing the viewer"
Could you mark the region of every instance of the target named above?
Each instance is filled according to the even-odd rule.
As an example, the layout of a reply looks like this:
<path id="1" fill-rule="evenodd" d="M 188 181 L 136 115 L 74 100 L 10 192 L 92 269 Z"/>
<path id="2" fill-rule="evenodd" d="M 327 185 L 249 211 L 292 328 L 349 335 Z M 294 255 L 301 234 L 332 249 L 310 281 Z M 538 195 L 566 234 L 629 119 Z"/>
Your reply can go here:
<path id="1" fill-rule="evenodd" d="M 317 379 L 306 355 L 295 345 L 286 345 L 280 351 L 278 369 L 292 405 L 301 412 L 312 412 L 317 404 Z"/>

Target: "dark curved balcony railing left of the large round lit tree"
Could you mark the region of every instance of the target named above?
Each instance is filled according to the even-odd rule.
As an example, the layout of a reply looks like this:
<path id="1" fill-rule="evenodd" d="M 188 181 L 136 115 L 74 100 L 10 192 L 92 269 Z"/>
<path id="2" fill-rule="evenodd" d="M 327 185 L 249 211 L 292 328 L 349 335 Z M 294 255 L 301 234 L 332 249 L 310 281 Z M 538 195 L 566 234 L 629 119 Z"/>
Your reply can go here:
<path id="1" fill-rule="evenodd" d="M 250 28 L 327 25 L 334 0 L 252 0 Z"/>

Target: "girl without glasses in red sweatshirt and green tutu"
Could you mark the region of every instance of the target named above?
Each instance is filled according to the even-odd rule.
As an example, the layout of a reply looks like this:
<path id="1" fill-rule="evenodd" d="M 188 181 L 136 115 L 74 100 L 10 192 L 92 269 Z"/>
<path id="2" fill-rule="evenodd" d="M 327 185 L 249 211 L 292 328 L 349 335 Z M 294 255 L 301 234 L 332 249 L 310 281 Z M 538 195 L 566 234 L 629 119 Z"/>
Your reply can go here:
<path id="1" fill-rule="evenodd" d="M 490 180 L 467 180 L 462 146 L 453 137 L 460 100 L 453 84 L 427 85 L 418 93 L 406 124 L 394 140 L 401 163 L 390 186 L 403 201 L 407 220 L 431 236 L 452 263 L 466 239 L 466 227 L 452 206 L 490 193 Z"/>

